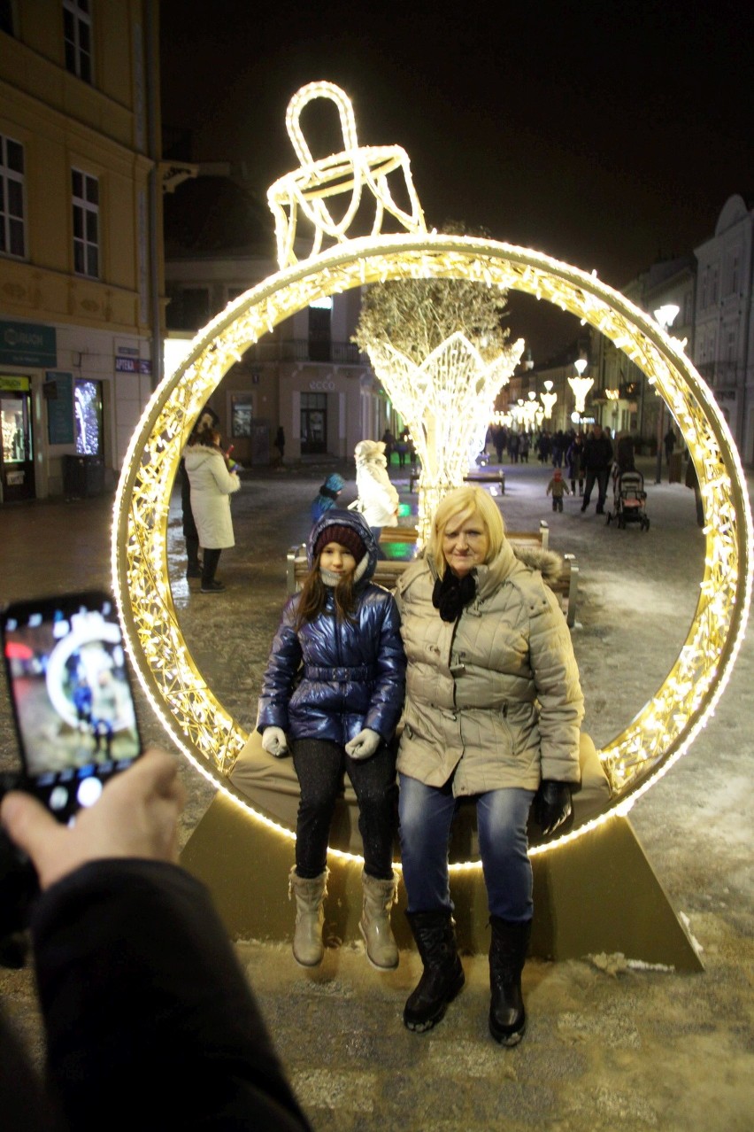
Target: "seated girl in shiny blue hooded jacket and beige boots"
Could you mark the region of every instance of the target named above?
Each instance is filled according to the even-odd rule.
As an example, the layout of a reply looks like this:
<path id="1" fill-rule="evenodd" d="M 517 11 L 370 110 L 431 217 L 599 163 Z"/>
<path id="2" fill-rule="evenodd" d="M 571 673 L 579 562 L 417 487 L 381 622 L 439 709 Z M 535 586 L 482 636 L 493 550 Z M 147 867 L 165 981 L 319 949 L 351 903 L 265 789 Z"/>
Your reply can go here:
<path id="1" fill-rule="evenodd" d="M 398 876 L 396 756 L 390 746 L 404 705 L 406 658 L 396 601 L 371 581 L 376 544 L 361 515 L 337 507 L 310 533 L 309 574 L 286 603 L 262 679 L 257 730 L 262 747 L 293 755 L 301 786 L 293 954 L 317 967 L 324 954 L 330 823 L 344 770 L 358 803 L 364 846 L 359 929 L 370 962 L 398 966 L 390 928 Z"/>

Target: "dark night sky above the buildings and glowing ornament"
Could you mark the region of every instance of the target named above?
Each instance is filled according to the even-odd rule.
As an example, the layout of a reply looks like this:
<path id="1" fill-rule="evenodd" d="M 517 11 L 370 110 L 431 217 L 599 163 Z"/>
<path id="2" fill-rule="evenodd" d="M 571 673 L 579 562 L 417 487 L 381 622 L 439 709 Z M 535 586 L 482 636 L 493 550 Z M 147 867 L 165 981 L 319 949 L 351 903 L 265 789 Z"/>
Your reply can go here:
<path id="1" fill-rule="evenodd" d="M 161 0 L 161 27 L 165 126 L 193 131 L 194 160 L 246 162 L 262 199 L 297 164 L 285 110 L 313 79 L 348 93 L 363 145 L 408 151 L 428 224 L 484 225 L 618 289 L 754 195 L 746 0 Z M 532 323 L 519 300 L 520 326 L 515 309 L 535 359 L 575 336 L 548 305 Z"/>

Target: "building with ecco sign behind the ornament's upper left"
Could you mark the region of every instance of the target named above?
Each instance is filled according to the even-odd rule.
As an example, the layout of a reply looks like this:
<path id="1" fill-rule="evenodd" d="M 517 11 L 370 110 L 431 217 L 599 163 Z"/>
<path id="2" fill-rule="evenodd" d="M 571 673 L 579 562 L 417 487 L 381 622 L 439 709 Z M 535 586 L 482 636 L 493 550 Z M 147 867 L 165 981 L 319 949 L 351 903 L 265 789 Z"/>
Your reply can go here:
<path id="1" fill-rule="evenodd" d="M 250 288 L 274 275 L 272 216 L 242 169 L 198 166 L 165 198 L 167 341 L 183 345 Z M 245 237 L 245 241 L 244 241 Z M 350 461 L 358 440 L 393 432 L 399 419 L 350 340 L 361 290 L 305 307 L 250 346 L 210 397 L 233 455 L 246 466 Z"/>

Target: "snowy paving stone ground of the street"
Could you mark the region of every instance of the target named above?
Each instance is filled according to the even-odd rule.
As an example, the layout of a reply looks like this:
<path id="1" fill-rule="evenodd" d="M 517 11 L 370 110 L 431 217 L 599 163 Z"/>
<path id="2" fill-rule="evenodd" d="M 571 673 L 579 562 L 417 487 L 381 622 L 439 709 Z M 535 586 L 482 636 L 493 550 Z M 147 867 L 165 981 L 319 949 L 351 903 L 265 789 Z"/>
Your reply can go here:
<path id="1" fill-rule="evenodd" d="M 332 469 L 328 469 L 332 470 Z M 692 492 L 655 484 L 643 468 L 650 530 L 618 531 L 580 500 L 553 514 L 549 470 L 506 466 L 503 515 L 511 530 L 551 524 L 551 546 L 577 555 L 580 595 L 572 635 L 598 746 L 622 730 L 662 683 L 685 638 L 696 599 L 703 538 Z M 355 495 L 341 469 L 343 500 Z M 415 500 L 392 469 L 401 498 Z M 664 472 L 665 475 L 665 472 Z M 168 556 L 181 626 L 222 703 L 253 727 L 261 671 L 285 591 L 285 550 L 305 538 L 322 468 L 249 471 L 233 501 L 236 547 L 220 560 L 227 590 L 202 595 L 183 577 L 177 499 Z M 748 478 L 749 496 L 752 479 Z M 112 497 L 41 501 L 0 511 L 0 599 L 106 585 Z M 676 911 L 702 949 L 705 970 L 685 975 L 621 957 L 530 961 L 529 1029 L 514 1049 L 488 1036 L 484 957 L 465 957 L 467 986 L 440 1027 L 409 1034 L 400 1021 L 419 974 L 402 951 L 393 972 L 366 962 L 358 941 L 328 947 L 321 968 L 298 968 L 285 943 L 235 946 L 280 1056 L 315 1129 L 339 1132 L 744 1132 L 754 1110 L 754 892 L 752 724 L 754 645 L 749 632 L 714 718 L 692 749 L 631 812 L 632 824 Z M 138 691 L 145 738 L 164 731 Z M 0 769 L 15 744 L 0 692 Z M 176 757 L 179 757 L 176 755 Z M 214 788 L 185 761 L 185 842 Z M 253 863 L 250 863 L 253 884 Z M 287 894 L 280 893 L 281 900 Z M 535 910 L 536 915 L 536 910 Z M 292 914 L 293 920 L 293 914 Z M 42 1056 L 32 976 L 0 968 L 3 1005 Z"/>

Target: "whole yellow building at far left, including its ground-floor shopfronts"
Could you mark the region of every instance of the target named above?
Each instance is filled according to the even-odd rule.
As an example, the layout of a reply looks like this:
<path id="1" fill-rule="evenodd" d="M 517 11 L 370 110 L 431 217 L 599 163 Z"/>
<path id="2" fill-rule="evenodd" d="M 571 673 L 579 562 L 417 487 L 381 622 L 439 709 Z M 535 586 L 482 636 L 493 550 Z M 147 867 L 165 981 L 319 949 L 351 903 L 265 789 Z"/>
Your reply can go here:
<path id="1" fill-rule="evenodd" d="M 161 378 L 155 3 L 6 3 L 3 503 L 112 487 Z"/>

